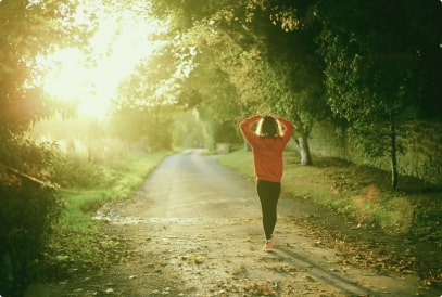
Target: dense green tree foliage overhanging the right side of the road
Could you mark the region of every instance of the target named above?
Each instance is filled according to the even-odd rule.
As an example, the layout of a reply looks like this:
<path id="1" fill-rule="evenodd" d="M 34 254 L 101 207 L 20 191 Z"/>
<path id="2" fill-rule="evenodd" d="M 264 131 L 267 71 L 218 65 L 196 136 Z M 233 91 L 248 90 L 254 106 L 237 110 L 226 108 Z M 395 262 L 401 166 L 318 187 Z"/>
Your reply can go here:
<path id="1" fill-rule="evenodd" d="M 331 112 L 351 121 L 353 134 L 364 131 L 364 137 L 367 122 L 380 131 L 379 125 L 394 128 L 414 111 L 428 114 L 429 102 L 437 104 L 440 94 L 434 76 L 441 65 L 440 5 L 414 0 L 387 7 L 382 1 L 188 0 L 155 3 L 154 12 L 174 15 L 173 28 L 190 36 L 199 54 L 212 53 L 210 60 L 227 75 L 243 113 L 276 109 L 296 124 L 300 143 L 308 147 L 312 126 Z M 362 144 L 367 152 L 394 154 L 394 133 Z"/>

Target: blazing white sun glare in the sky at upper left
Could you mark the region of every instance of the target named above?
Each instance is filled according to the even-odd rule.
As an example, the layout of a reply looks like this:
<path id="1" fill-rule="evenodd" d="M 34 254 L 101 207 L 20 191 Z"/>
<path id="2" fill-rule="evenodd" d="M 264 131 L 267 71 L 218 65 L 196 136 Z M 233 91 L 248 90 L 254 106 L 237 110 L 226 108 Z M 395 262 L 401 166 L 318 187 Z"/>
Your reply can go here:
<path id="1" fill-rule="evenodd" d="M 77 22 L 85 22 L 81 10 L 78 11 Z M 79 101 L 78 113 L 100 118 L 105 115 L 119 81 L 130 74 L 140 59 L 152 54 L 159 46 L 149 37 L 164 25 L 160 27 L 155 21 L 148 21 L 127 10 L 112 14 L 109 10 L 100 10 L 98 17 L 100 27 L 90 40 L 97 64 L 88 68 L 80 50 L 60 49 L 45 62 L 51 72 L 43 83 L 45 90 L 60 100 Z M 119 34 L 116 35 L 116 31 Z"/>

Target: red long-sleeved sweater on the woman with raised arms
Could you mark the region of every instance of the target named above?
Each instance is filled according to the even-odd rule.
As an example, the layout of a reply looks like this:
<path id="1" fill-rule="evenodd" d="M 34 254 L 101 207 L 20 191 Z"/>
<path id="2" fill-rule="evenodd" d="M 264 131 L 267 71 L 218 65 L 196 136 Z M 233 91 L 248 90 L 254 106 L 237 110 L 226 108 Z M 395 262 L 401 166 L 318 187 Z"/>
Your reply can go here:
<path id="1" fill-rule="evenodd" d="M 280 182 L 282 178 L 282 152 L 293 132 L 293 124 L 285 118 L 278 121 L 286 128 L 282 138 L 260 138 L 251 130 L 261 116 L 252 116 L 241 121 L 240 129 L 253 151 L 253 164 L 257 180 Z"/>

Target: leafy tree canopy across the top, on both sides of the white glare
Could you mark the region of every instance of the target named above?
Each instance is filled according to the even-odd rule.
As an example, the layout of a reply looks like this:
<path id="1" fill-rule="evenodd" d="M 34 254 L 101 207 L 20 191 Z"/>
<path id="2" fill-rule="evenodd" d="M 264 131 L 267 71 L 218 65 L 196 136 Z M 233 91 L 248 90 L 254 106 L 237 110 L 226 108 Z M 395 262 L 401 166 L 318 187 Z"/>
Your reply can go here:
<path id="1" fill-rule="evenodd" d="M 7 29 L 0 39 L 5 49 L 0 60 L 3 138 L 68 106 L 42 92 L 45 69 L 36 61 L 54 44 L 87 49 L 99 10 L 84 12 L 86 25 L 74 17 L 80 4 L 0 2 Z M 249 113 L 277 112 L 296 125 L 303 164 L 312 163 L 310 133 L 324 118 L 343 119 L 357 132 L 381 131 L 375 122 L 391 126 L 404 117 L 441 115 L 435 108 L 441 90 L 437 0 L 388 5 L 379 0 L 134 0 L 97 5 L 130 9 L 140 17 L 149 13 L 168 24 L 156 36 L 166 46 L 122 82 L 115 106 L 197 108 L 212 126 L 230 127 Z M 375 143 L 370 152 L 388 152 L 382 142 L 372 141 L 377 135 L 366 139 Z"/>

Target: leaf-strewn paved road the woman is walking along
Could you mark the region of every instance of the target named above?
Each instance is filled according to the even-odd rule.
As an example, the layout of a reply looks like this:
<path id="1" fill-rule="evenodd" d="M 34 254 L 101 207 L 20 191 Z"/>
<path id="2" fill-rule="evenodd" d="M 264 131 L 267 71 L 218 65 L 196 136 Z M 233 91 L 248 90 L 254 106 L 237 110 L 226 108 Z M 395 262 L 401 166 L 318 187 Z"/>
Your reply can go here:
<path id="1" fill-rule="evenodd" d="M 149 264 L 139 259 L 161 255 L 161 277 L 184 283 L 181 296 L 426 296 L 416 275 L 337 264 L 337 250 L 306 237 L 290 219 L 310 216 L 290 198 L 279 204 L 276 251 L 262 251 L 254 182 L 201 151 L 167 157 L 117 211 L 113 224 L 125 228 L 139 254 L 127 273 L 143 273 Z M 131 296 L 171 292 L 138 282 Z"/>

